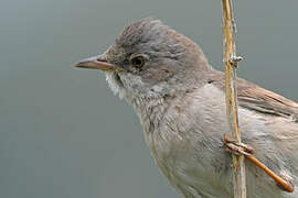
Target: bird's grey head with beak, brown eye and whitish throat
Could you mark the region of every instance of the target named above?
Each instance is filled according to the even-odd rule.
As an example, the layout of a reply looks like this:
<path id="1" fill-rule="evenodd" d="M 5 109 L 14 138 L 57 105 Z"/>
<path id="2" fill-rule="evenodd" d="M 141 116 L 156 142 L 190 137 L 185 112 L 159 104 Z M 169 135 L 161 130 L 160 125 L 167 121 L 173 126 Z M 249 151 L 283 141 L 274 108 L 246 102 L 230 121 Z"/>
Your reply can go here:
<path id="1" fill-rule="evenodd" d="M 111 89 L 126 99 L 173 96 L 203 84 L 211 68 L 194 42 L 149 18 L 125 28 L 103 55 L 76 66 L 104 70 Z"/>

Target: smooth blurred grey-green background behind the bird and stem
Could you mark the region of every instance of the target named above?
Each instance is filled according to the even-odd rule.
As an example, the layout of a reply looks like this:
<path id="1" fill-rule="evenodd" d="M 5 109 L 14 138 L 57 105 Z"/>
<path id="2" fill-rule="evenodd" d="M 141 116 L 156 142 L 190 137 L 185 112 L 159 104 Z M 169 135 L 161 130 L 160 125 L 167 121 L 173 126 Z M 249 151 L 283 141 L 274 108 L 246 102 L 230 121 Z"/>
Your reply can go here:
<path id="1" fill-rule="evenodd" d="M 237 1 L 238 76 L 298 101 L 298 1 Z M 179 198 L 131 107 L 100 72 L 74 68 L 123 28 L 161 19 L 222 69 L 214 0 L 1 0 L 0 197 Z"/>

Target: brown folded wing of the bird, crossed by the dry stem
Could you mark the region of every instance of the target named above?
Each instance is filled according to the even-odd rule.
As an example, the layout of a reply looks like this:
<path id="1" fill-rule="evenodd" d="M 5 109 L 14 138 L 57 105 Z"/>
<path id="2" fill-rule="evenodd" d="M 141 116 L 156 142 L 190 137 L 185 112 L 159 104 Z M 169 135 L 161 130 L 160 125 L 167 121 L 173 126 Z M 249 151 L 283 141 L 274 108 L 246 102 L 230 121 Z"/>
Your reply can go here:
<path id="1" fill-rule="evenodd" d="M 216 72 L 210 81 L 224 90 L 224 74 Z M 298 122 L 298 103 L 255 84 L 237 78 L 238 105 L 259 113 L 292 118 Z"/>

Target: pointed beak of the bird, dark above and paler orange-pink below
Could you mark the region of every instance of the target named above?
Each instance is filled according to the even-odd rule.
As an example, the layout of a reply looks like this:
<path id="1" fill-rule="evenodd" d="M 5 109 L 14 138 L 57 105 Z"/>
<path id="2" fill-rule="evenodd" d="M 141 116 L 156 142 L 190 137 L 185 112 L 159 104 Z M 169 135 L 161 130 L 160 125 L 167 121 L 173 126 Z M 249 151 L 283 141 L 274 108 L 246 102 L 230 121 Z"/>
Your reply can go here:
<path id="1" fill-rule="evenodd" d="M 107 61 L 103 58 L 103 55 L 82 59 L 75 64 L 75 67 L 100 69 L 105 72 L 113 72 L 116 69 L 116 66 L 107 63 Z"/>

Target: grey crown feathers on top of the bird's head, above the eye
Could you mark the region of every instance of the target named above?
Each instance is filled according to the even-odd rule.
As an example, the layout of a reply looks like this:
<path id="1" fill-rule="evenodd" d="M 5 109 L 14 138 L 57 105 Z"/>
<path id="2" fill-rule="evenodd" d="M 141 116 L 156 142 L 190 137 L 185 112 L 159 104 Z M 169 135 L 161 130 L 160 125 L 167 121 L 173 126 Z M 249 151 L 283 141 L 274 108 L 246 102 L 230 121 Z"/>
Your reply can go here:
<path id="1" fill-rule="evenodd" d="M 185 53 L 185 47 L 174 34 L 177 32 L 161 21 L 146 18 L 127 26 L 116 40 L 116 45 L 127 53 L 142 51 L 153 57 L 178 59 Z"/>

